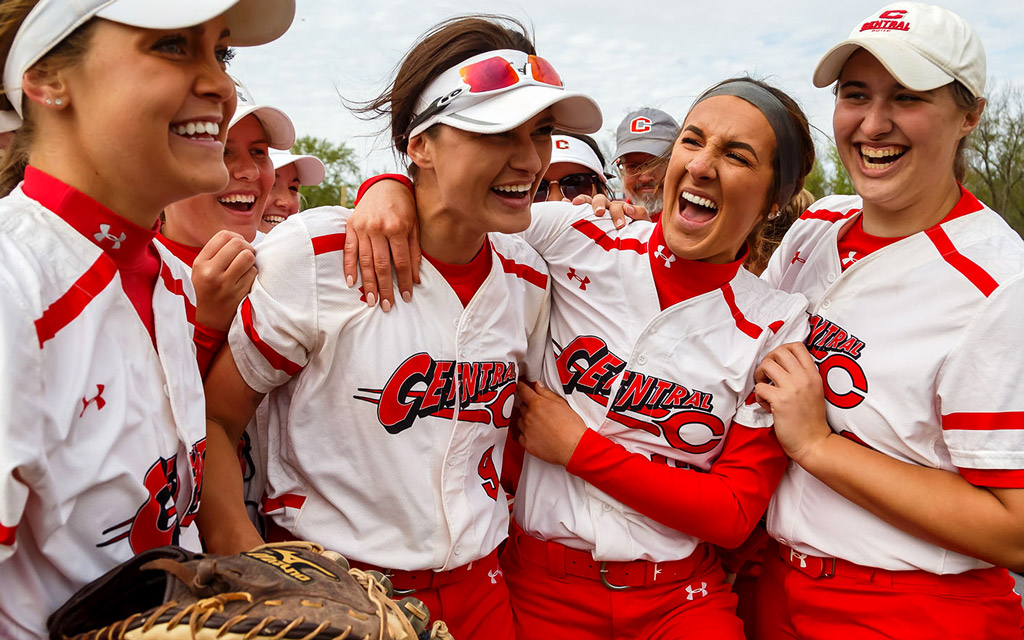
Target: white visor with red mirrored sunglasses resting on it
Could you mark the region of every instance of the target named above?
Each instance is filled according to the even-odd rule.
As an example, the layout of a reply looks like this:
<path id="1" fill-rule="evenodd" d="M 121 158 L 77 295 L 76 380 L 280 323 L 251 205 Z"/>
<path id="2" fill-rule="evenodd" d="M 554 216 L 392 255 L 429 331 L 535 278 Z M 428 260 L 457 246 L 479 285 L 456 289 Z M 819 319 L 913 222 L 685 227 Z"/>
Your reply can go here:
<path id="1" fill-rule="evenodd" d="M 483 69 L 477 63 L 492 60 L 510 82 L 494 89 L 474 87 L 473 72 Z M 486 51 L 434 78 L 420 95 L 407 135 L 419 135 L 438 123 L 475 133 L 502 133 L 549 106 L 560 129 L 593 133 L 601 128 L 597 102 L 589 95 L 566 91 L 550 62 L 517 49 Z"/>

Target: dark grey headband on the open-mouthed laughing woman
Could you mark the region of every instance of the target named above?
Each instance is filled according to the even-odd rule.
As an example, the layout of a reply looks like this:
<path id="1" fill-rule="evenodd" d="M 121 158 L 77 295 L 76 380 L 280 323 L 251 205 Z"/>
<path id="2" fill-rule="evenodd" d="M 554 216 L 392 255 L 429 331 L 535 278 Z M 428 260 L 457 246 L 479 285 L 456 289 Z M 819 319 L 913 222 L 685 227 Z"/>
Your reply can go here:
<path id="1" fill-rule="evenodd" d="M 784 208 L 797 194 L 797 182 L 800 179 L 800 134 L 790 110 L 774 93 L 746 80 L 726 82 L 712 87 L 694 100 L 693 106 L 716 95 L 742 98 L 757 106 L 768 120 L 772 131 L 775 132 L 775 155 L 778 157 L 778 207 Z M 693 106 L 690 106 L 690 111 L 693 111 Z"/>

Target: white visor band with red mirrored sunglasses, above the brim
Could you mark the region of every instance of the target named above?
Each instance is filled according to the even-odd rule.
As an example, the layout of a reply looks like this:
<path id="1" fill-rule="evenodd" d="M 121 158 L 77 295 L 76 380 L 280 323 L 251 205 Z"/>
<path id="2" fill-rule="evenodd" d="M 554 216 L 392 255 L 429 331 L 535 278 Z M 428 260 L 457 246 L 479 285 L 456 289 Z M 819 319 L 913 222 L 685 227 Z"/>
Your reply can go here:
<path id="1" fill-rule="evenodd" d="M 421 103 L 430 95 L 444 92 L 421 105 L 419 114 L 406 129 L 406 137 L 423 133 L 439 121 L 439 116 L 482 102 L 496 93 L 524 85 L 541 85 L 562 90 L 562 79 L 548 60 L 524 51 L 501 49 L 487 51 L 460 62 L 434 79 L 420 96 Z M 446 90 L 445 90 L 446 89 Z M 458 109 L 457 109 L 458 108 Z"/>

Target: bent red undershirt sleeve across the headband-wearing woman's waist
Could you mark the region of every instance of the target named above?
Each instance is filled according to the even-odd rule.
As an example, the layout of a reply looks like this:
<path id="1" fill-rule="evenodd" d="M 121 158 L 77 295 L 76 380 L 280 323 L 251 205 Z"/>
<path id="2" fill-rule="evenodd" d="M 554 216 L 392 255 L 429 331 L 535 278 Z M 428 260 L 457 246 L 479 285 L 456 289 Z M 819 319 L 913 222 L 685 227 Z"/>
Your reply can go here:
<path id="1" fill-rule="evenodd" d="M 772 429 L 733 423 L 708 473 L 651 462 L 590 429 L 566 468 L 649 518 L 731 549 L 761 519 L 785 465 Z"/>

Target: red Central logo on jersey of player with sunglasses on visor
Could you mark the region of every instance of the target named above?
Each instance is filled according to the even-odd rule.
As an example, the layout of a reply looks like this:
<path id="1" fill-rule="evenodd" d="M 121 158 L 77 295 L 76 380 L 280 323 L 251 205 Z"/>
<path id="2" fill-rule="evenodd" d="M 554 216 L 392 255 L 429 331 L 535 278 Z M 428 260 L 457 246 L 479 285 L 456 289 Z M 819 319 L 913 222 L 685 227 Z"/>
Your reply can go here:
<path id="1" fill-rule="evenodd" d="M 456 397 L 456 376 L 459 395 Z M 360 388 L 354 398 L 377 404 L 377 418 L 388 433 L 401 433 L 417 418 L 451 419 L 509 426 L 519 370 L 515 362 L 455 362 L 417 353 L 398 366 L 382 389 Z"/>

